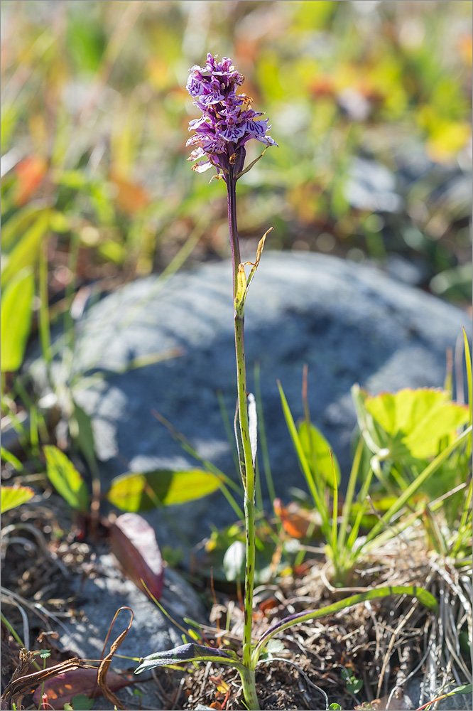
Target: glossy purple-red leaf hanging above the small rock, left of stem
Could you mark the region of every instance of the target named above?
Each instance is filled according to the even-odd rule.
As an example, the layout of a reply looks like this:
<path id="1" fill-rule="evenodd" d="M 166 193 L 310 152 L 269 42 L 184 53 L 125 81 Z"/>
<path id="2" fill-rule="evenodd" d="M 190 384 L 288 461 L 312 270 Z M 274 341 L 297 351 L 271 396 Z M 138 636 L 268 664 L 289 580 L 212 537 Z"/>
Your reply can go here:
<path id="1" fill-rule="evenodd" d="M 154 529 L 137 513 L 124 513 L 110 527 L 112 553 L 128 577 L 145 594 L 158 600 L 163 592 L 164 569 Z"/>

